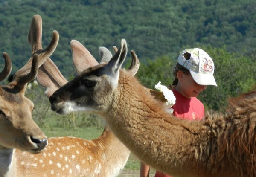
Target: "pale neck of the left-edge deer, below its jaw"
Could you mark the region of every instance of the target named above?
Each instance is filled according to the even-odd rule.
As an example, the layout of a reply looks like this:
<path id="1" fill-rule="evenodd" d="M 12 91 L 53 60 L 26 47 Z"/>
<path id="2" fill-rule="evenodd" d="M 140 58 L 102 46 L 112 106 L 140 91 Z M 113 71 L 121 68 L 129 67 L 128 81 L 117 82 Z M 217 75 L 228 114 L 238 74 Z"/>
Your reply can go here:
<path id="1" fill-rule="evenodd" d="M 15 150 L 0 147 L 0 176 L 16 177 Z"/>

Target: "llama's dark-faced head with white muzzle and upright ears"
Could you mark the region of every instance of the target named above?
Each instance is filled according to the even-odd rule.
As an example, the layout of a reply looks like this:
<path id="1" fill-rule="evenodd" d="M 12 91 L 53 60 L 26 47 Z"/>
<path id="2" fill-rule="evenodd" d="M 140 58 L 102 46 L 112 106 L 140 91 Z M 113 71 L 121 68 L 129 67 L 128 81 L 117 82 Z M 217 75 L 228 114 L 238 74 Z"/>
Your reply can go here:
<path id="1" fill-rule="evenodd" d="M 119 70 L 127 54 L 127 44 L 121 41 L 121 48 L 112 55 L 106 48 L 100 48 L 102 63 L 87 68 L 59 88 L 49 98 L 52 110 L 60 114 L 73 111 L 105 113 L 112 104 L 113 93 L 117 89 Z M 105 64 L 105 62 L 108 63 Z"/>

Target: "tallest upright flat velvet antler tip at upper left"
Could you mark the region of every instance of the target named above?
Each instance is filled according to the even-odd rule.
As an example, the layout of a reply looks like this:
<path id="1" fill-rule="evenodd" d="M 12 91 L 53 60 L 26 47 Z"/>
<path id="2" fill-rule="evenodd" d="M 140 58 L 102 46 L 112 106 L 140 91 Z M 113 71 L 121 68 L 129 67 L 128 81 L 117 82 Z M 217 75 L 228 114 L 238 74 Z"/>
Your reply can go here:
<path id="1" fill-rule="evenodd" d="M 34 15 L 32 18 L 29 34 L 28 34 L 28 42 L 31 44 L 31 51 L 35 53 L 39 49 L 42 48 L 42 18 L 40 15 Z"/>

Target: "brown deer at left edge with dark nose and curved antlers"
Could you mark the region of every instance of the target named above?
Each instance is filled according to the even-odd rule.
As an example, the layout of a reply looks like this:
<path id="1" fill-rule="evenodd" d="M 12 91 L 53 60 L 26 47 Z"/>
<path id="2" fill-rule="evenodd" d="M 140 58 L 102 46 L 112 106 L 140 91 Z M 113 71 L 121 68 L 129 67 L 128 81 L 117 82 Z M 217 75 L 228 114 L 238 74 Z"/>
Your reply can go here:
<path id="1" fill-rule="evenodd" d="M 47 136 L 32 119 L 33 102 L 25 96 L 27 83 L 34 80 L 38 67 L 55 50 L 58 32 L 53 31 L 52 41 L 45 49 L 36 51 L 29 62 L 18 70 L 13 80 L 0 86 L 0 176 L 24 177 L 18 171 L 17 151 L 38 154 L 47 146 Z M 12 70 L 11 57 L 3 52 L 5 67 L 0 73 L 3 81 Z"/>

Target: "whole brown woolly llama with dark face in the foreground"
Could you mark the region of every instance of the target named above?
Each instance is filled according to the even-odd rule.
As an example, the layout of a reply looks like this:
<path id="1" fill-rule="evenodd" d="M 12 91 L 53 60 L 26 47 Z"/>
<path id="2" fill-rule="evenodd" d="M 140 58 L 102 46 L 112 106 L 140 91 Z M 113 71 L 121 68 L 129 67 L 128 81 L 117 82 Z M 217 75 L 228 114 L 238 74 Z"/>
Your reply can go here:
<path id="1" fill-rule="evenodd" d="M 256 176 L 256 90 L 230 102 L 225 114 L 208 113 L 203 121 L 178 119 L 121 68 L 126 55 L 122 39 L 107 64 L 87 68 L 56 90 L 49 97 L 51 109 L 98 114 L 135 156 L 165 174 Z M 51 77 L 58 81 L 57 74 Z"/>

